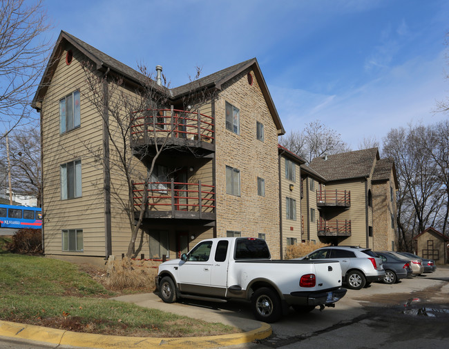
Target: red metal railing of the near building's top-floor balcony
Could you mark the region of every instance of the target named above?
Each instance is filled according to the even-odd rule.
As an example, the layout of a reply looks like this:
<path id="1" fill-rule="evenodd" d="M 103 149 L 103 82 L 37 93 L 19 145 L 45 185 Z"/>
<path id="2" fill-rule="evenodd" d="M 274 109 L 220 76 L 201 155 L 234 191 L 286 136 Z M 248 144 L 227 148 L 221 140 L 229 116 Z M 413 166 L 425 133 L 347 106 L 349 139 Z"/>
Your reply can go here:
<path id="1" fill-rule="evenodd" d="M 200 111 L 178 109 L 146 109 L 131 113 L 131 140 L 171 137 L 213 143 L 213 117 Z"/>

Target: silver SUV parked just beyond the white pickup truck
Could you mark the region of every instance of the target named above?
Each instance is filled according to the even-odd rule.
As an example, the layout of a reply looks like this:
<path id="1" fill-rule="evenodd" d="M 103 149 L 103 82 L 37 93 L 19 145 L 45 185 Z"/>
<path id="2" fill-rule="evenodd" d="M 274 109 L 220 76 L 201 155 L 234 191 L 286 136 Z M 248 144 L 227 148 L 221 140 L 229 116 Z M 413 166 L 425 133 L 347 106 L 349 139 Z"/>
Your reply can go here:
<path id="1" fill-rule="evenodd" d="M 347 288 L 360 290 L 373 281 L 382 281 L 385 275 L 382 259 L 370 250 L 356 246 L 329 246 L 318 248 L 297 259 L 336 259 L 340 262 L 343 281 Z"/>

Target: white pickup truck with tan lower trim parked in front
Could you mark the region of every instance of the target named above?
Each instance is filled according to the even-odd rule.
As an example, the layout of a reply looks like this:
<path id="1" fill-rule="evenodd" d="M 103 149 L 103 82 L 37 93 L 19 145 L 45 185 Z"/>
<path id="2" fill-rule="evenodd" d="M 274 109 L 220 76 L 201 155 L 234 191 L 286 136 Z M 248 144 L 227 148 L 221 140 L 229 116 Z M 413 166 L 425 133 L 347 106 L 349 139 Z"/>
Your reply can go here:
<path id="1" fill-rule="evenodd" d="M 274 261 L 265 240 L 249 237 L 201 241 L 181 259 L 162 263 L 156 286 L 166 303 L 247 299 L 265 322 L 277 321 L 289 306 L 297 312 L 334 307 L 346 294 L 338 261 Z"/>

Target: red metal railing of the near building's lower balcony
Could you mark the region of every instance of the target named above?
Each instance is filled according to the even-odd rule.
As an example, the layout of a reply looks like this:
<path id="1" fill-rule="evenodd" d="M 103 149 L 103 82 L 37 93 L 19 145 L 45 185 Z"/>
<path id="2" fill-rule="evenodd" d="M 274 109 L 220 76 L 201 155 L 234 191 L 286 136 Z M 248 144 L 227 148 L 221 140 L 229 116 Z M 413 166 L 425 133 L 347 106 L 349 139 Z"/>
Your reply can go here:
<path id="1" fill-rule="evenodd" d="M 149 211 L 215 212 L 215 186 L 198 183 L 150 182 L 133 183 L 134 206 L 142 206 L 144 190 L 148 194 Z"/>

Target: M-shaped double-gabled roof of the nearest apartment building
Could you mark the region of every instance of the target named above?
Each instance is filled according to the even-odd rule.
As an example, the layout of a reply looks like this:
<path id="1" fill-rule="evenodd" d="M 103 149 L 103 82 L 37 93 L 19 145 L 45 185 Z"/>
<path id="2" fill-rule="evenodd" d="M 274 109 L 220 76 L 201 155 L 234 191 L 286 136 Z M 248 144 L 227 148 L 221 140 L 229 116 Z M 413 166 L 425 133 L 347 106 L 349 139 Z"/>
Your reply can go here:
<path id="1" fill-rule="evenodd" d="M 33 108 L 39 109 L 37 107 L 37 102 L 41 101 L 44 98 L 46 90 L 48 89 L 48 85 L 52 79 L 52 75 L 56 70 L 58 58 L 61 52 L 64 50 L 65 43 L 70 43 L 71 45 L 75 46 L 77 50 L 85 54 L 86 57 L 88 57 L 91 61 L 95 63 L 97 70 L 104 70 L 104 71 L 106 71 L 107 69 L 113 70 L 117 74 L 120 74 L 124 78 L 131 80 L 139 85 L 142 85 L 144 81 L 152 83 L 155 88 L 164 91 L 166 93 L 169 93 L 172 99 L 178 99 L 182 97 L 182 95 L 184 94 L 204 88 L 220 89 L 222 87 L 222 84 L 226 83 L 233 77 L 236 77 L 236 75 L 240 74 L 240 72 L 243 72 L 248 68 L 252 68 L 254 74 L 256 75 L 256 79 L 258 80 L 260 90 L 262 90 L 262 94 L 267 103 L 269 112 L 273 117 L 273 121 L 276 125 L 276 129 L 278 130 L 278 134 L 279 135 L 285 134 L 283 124 L 280 121 L 278 111 L 274 106 L 273 99 L 271 98 L 271 94 L 269 93 L 267 83 L 265 82 L 265 79 L 262 75 L 262 72 L 260 70 L 256 58 L 248 59 L 247 61 L 243 61 L 234 66 L 219 70 L 218 72 L 209 74 L 206 77 L 202 77 L 201 79 L 192 81 L 191 83 L 187 83 L 185 85 L 179 86 L 177 88 L 172 88 L 171 90 L 169 90 L 168 88 L 157 86 L 155 81 L 151 79 L 150 81 L 148 81 L 149 78 L 147 78 L 144 74 L 137 72 L 137 70 L 134 70 L 133 68 L 126 66 L 126 64 L 117 61 L 117 59 L 108 56 L 108 54 L 105 54 L 104 52 L 97 50 L 93 46 L 90 46 L 88 43 L 85 43 L 84 41 L 78 39 L 77 37 L 74 37 L 72 34 L 69 34 L 68 32 L 64 32 L 62 30 L 56 41 L 55 48 L 52 51 L 50 60 L 48 61 L 48 65 L 41 79 L 41 82 L 39 83 L 39 87 L 37 88 L 35 97 L 32 100 Z"/>

